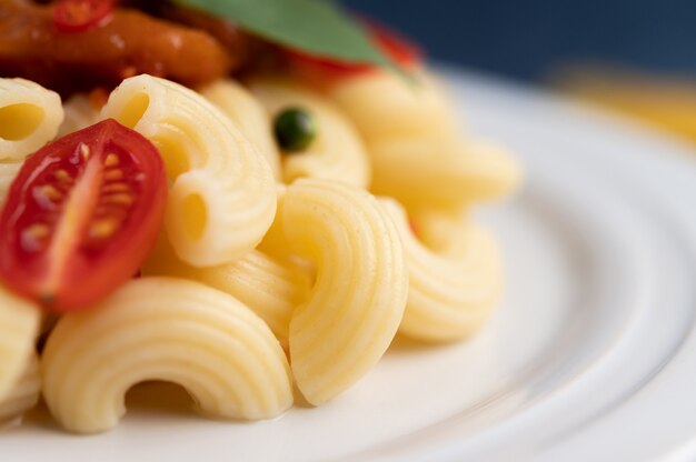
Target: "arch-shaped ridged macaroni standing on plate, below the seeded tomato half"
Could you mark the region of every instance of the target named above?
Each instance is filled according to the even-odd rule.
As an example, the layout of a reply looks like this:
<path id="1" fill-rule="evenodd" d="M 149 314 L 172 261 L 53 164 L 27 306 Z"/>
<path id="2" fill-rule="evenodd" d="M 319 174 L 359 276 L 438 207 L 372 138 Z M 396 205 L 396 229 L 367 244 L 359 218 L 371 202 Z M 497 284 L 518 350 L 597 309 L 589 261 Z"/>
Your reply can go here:
<path id="1" fill-rule="evenodd" d="M 43 398 L 66 429 L 113 428 L 125 394 L 147 380 L 182 385 L 206 414 L 267 419 L 292 404 L 287 359 L 268 327 L 235 298 L 173 278 L 129 282 L 63 317 L 42 358 Z"/>

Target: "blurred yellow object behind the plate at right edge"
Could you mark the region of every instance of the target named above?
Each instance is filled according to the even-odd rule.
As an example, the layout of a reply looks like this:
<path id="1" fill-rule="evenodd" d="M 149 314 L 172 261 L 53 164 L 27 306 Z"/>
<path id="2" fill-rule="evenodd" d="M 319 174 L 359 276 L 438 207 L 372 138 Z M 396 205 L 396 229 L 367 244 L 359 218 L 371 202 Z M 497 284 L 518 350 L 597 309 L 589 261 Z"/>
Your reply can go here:
<path id="1" fill-rule="evenodd" d="M 553 81 L 570 94 L 696 143 L 696 79 L 578 67 L 558 72 Z"/>

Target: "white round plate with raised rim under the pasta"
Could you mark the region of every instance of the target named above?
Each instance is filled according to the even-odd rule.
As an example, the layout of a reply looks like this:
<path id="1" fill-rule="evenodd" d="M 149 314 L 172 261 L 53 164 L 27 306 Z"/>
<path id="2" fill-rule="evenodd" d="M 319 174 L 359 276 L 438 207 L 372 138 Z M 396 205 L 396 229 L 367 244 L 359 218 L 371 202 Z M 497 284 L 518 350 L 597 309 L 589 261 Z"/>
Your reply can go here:
<path id="1" fill-rule="evenodd" d="M 110 433 L 33 421 L 1 436 L 0 458 L 696 458 L 696 158 L 546 93 L 448 77 L 473 131 L 513 147 L 527 170 L 517 200 L 481 214 L 504 244 L 508 289 L 480 334 L 399 341 L 345 395 L 275 421 L 210 422 L 186 400 L 143 404 L 153 393 L 139 389 Z"/>

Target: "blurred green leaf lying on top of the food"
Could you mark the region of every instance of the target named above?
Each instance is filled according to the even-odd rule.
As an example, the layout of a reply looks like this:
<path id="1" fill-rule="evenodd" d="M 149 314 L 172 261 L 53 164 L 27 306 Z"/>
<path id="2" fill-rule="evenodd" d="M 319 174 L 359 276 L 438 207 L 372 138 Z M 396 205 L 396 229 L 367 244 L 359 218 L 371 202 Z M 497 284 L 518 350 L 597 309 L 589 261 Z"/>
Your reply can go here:
<path id="1" fill-rule="evenodd" d="M 271 42 L 310 54 L 391 69 L 362 26 L 329 0 L 175 0 L 227 18 Z"/>

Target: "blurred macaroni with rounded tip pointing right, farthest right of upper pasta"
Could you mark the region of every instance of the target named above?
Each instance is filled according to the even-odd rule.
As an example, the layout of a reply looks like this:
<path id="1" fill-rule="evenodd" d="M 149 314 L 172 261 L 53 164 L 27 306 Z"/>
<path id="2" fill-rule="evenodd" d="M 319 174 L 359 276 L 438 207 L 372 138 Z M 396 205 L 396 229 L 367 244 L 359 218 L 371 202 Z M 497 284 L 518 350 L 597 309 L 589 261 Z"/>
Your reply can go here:
<path id="1" fill-rule="evenodd" d="M 487 143 L 454 138 L 384 139 L 371 144 L 371 190 L 410 209 L 455 210 L 509 194 L 519 183 L 514 158 Z"/>

